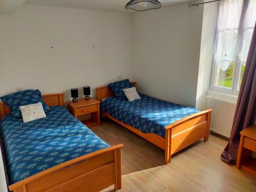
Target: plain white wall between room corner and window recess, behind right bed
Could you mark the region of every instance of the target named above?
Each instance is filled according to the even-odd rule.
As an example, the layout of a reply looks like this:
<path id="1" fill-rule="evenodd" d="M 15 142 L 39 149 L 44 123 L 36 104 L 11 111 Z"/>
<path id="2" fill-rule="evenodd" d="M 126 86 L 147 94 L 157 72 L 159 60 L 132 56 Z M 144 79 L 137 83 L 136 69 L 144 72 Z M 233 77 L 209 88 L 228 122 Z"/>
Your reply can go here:
<path id="1" fill-rule="evenodd" d="M 180 4 L 134 16 L 134 73 L 141 93 L 196 105 L 203 6 Z"/>

